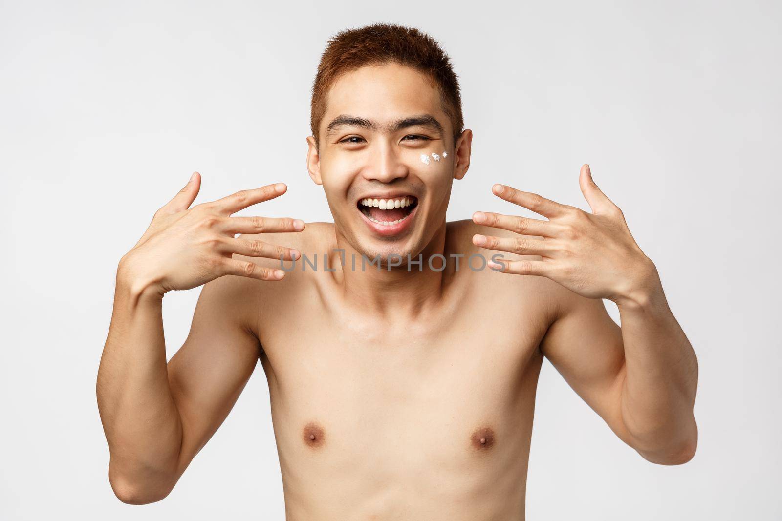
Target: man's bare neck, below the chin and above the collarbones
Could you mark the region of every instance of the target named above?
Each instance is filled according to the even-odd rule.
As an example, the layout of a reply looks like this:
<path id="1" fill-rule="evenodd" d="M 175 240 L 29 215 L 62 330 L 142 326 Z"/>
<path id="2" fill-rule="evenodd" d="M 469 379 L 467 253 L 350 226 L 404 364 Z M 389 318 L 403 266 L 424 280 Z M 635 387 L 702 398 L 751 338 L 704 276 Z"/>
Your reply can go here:
<path id="1" fill-rule="evenodd" d="M 388 263 L 382 263 L 378 269 L 378 263 L 369 264 L 364 261 L 362 269 L 361 253 L 336 231 L 337 248 L 345 251 L 345 265 L 342 265 L 340 252 L 329 253 L 328 264 L 333 266 L 335 281 L 341 284 L 345 298 L 349 298 L 353 305 L 359 309 L 391 318 L 410 319 L 421 315 L 427 305 L 438 302 L 443 294 L 443 275 L 447 269 L 435 271 L 429 268 L 429 258 L 432 255 L 443 255 L 446 240 L 446 223 L 442 225 L 432 236 L 432 240 L 421 251 L 421 257 L 411 255 L 411 261 L 421 261 L 420 264 L 407 263 L 407 255 L 401 261 L 391 259 L 393 264 L 400 262 L 400 266 L 389 269 Z M 355 268 L 353 269 L 353 259 Z M 442 259 L 432 259 L 432 266 L 441 267 Z"/>

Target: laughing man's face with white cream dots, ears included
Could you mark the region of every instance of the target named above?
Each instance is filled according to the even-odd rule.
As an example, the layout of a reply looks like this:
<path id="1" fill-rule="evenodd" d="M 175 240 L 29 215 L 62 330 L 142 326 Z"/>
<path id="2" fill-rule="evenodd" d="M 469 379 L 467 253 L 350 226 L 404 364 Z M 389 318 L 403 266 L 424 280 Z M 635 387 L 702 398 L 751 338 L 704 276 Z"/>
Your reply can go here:
<path id="1" fill-rule="evenodd" d="M 417 257 L 445 222 L 472 138 L 465 130 L 454 148 L 436 84 L 395 64 L 346 73 L 328 92 L 319 130 L 317 147 L 307 139 L 307 164 L 337 234 L 370 258 Z"/>

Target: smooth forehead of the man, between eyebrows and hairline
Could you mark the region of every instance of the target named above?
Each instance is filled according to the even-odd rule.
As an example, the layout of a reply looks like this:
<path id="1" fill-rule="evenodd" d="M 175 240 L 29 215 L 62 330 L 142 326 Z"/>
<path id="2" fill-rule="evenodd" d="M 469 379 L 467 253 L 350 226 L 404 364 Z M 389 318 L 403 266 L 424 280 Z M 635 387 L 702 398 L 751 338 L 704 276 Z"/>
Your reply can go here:
<path id="1" fill-rule="evenodd" d="M 381 122 L 432 114 L 444 128 L 450 128 L 434 80 L 396 63 L 362 67 L 337 78 L 326 96 L 321 131 L 341 114 Z"/>

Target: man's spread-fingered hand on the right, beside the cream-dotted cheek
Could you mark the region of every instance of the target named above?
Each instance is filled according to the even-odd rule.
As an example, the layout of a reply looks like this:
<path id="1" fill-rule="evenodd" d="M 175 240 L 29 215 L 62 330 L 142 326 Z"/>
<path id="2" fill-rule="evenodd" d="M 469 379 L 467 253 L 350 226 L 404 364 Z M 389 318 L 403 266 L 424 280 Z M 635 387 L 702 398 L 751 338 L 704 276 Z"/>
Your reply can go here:
<path id="1" fill-rule="evenodd" d="M 622 298 L 635 298 L 639 291 L 656 289 L 659 279 L 655 265 L 636 244 L 622 210 L 594 184 L 589 165 L 581 167 L 579 184 L 592 213 L 495 184 L 495 195 L 548 220 L 475 212 L 475 223 L 510 230 L 519 236 L 475 234 L 473 244 L 518 255 L 540 255 L 540 260 L 502 259 L 489 265 L 504 273 L 548 277 L 588 298 L 619 302 Z"/>

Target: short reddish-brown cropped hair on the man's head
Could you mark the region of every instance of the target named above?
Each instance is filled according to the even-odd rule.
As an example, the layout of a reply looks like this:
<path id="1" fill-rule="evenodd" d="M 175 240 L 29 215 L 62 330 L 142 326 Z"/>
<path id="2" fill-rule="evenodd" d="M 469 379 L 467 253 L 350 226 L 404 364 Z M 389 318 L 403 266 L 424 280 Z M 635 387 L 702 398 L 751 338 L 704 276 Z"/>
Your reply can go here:
<path id="1" fill-rule="evenodd" d="M 425 73 L 436 82 L 443 99 L 443 112 L 450 118 L 454 142 L 465 127 L 461 115 L 459 81 L 450 58 L 437 41 L 414 27 L 375 23 L 335 34 L 326 46 L 312 86 L 310 126 L 315 141 L 326 112 L 326 95 L 343 73 L 364 66 L 398 63 Z"/>

